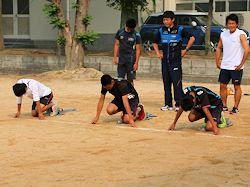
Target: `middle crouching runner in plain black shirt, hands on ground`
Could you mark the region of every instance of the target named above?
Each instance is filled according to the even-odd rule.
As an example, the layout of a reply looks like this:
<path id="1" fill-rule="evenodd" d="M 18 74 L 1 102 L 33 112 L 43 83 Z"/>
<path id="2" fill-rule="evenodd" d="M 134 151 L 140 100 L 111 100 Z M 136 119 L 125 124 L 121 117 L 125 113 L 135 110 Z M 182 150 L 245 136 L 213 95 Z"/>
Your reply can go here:
<path id="1" fill-rule="evenodd" d="M 133 127 L 136 127 L 136 119 L 143 120 L 145 118 L 143 106 L 139 104 L 138 94 L 128 80 L 114 79 L 110 75 L 103 75 L 101 84 L 101 96 L 97 104 L 96 117 L 93 119 L 92 124 L 96 124 L 99 120 L 107 92 L 115 96 L 113 101 L 107 106 L 107 113 L 109 115 L 122 111 L 122 122 L 130 124 Z"/>

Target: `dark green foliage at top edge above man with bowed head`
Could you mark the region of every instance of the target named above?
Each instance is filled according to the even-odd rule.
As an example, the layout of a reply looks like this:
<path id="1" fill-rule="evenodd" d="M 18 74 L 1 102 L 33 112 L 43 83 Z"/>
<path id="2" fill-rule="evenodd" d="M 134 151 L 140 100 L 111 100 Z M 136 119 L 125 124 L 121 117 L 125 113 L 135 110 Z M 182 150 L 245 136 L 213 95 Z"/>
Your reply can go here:
<path id="1" fill-rule="evenodd" d="M 130 12 L 137 12 L 138 7 L 141 10 L 146 10 L 148 2 L 147 0 L 106 0 L 106 4 L 109 7 L 113 7 L 117 10 L 126 10 Z"/>

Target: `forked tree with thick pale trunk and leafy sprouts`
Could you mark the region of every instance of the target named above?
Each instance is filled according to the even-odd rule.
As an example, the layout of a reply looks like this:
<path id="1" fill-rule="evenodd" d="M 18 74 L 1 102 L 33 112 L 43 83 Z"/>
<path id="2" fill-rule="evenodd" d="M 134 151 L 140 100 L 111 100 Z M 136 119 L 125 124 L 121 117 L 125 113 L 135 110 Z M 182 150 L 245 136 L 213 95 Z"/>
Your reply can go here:
<path id="1" fill-rule="evenodd" d="M 69 20 L 65 19 L 61 0 L 49 0 L 44 7 L 44 12 L 50 24 L 59 29 L 61 35 L 57 43 L 65 47 L 65 69 L 78 69 L 83 67 L 84 52 L 87 44 L 93 44 L 97 34 L 87 31 L 91 17 L 88 15 L 89 0 L 76 0 L 73 8 L 76 9 L 74 30 L 70 28 Z"/>

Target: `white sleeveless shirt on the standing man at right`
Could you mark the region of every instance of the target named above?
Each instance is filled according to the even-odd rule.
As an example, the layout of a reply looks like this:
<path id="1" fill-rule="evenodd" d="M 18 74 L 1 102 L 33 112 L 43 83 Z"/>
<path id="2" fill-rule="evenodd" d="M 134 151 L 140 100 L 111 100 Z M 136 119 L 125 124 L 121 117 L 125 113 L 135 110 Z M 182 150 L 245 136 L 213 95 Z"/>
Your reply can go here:
<path id="1" fill-rule="evenodd" d="M 223 45 L 223 57 L 221 62 L 221 69 L 235 70 L 236 66 L 240 65 L 244 56 L 244 48 L 241 45 L 240 36 L 246 33 L 242 30 L 236 29 L 234 33 L 225 30 L 221 33 L 221 40 Z M 243 69 L 244 66 L 241 68 Z"/>

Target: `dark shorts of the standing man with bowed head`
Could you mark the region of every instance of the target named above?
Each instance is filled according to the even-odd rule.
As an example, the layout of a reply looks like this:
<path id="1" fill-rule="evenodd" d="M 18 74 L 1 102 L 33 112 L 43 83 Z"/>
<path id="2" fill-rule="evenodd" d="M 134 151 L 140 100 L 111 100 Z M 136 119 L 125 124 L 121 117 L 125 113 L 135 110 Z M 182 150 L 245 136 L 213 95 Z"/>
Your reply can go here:
<path id="1" fill-rule="evenodd" d="M 132 81 L 136 79 L 136 71 L 134 71 L 134 64 L 133 63 L 118 63 L 117 72 L 119 78 L 125 78 L 127 76 L 128 81 Z"/>

